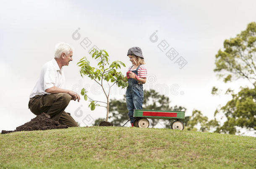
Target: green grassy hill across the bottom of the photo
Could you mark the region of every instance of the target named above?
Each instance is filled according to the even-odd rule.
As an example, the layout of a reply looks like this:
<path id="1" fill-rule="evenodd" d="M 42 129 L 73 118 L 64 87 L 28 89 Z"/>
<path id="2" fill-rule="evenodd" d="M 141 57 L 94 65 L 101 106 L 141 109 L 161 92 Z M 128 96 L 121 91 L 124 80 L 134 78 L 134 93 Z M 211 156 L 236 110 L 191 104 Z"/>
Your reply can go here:
<path id="1" fill-rule="evenodd" d="M 256 168 L 256 138 L 126 127 L 0 134 L 0 168 Z"/>

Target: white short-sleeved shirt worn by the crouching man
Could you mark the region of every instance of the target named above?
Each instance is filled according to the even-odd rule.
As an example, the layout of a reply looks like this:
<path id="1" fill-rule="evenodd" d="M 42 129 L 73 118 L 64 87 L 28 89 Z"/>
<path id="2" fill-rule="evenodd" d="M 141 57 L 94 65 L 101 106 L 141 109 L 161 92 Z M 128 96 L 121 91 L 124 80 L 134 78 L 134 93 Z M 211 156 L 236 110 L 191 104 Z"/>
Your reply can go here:
<path id="1" fill-rule="evenodd" d="M 63 68 L 60 69 L 55 58 L 44 64 L 40 78 L 38 79 L 37 84 L 32 90 L 29 98 L 36 95 L 50 94 L 45 92 L 45 90 L 53 86 L 65 88 L 65 76 Z"/>

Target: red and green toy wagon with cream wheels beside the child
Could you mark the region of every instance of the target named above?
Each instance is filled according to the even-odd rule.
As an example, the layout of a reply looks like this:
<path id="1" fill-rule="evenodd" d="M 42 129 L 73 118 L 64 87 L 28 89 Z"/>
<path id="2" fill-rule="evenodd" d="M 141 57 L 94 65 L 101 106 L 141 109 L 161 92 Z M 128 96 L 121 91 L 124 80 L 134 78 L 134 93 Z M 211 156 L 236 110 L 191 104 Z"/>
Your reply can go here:
<path id="1" fill-rule="evenodd" d="M 183 120 L 185 119 L 185 111 L 134 109 L 133 117 L 135 118 L 133 122 L 134 126 L 140 128 L 149 127 L 148 119 L 168 119 L 174 121 L 171 125 L 172 129 L 184 129 Z"/>

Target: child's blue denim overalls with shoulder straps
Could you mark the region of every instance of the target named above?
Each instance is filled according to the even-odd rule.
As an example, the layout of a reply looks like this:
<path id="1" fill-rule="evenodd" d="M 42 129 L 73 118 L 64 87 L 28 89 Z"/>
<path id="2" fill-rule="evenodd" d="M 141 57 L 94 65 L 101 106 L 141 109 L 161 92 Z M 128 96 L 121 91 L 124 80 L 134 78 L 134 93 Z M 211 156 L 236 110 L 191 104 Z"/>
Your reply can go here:
<path id="1" fill-rule="evenodd" d="M 140 66 L 141 65 L 139 65 L 138 68 Z M 129 71 L 131 71 L 131 68 Z M 136 68 L 135 71 L 132 71 L 137 76 L 138 76 L 138 68 Z M 142 84 L 138 84 L 138 81 L 136 81 L 134 78 L 128 78 L 128 87 L 125 93 L 125 98 L 126 98 L 126 106 L 128 109 L 128 116 L 131 119 L 131 123 L 133 123 L 134 121 L 133 109 L 142 109 L 142 103 L 143 103 Z"/>

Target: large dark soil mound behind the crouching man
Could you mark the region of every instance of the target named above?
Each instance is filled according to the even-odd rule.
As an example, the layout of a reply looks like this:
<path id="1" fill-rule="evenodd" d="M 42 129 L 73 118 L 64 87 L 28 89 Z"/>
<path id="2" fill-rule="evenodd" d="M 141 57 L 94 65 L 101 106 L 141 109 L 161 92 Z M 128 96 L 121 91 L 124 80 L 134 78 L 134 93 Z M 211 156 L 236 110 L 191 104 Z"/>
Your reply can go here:
<path id="1" fill-rule="evenodd" d="M 34 131 L 34 130 L 49 130 L 49 129 L 65 129 L 68 126 L 60 124 L 60 122 L 50 119 L 50 115 L 42 113 L 36 116 L 31 121 L 18 126 L 14 131 L 2 130 L 2 134 L 7 134 L 16 131 Z"/>

